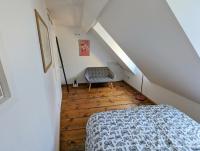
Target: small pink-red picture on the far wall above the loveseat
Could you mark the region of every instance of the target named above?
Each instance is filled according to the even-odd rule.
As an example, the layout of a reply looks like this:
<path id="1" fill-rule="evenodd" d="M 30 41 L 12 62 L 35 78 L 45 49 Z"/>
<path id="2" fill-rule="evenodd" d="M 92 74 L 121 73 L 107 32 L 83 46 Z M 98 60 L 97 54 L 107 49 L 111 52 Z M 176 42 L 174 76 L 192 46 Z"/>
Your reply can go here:
<path id="1" fill-rule="evenodd" d="M 90 55 L 90 41 L 79 40 L 79 56 L 89 56 L 89 55 Z"/>

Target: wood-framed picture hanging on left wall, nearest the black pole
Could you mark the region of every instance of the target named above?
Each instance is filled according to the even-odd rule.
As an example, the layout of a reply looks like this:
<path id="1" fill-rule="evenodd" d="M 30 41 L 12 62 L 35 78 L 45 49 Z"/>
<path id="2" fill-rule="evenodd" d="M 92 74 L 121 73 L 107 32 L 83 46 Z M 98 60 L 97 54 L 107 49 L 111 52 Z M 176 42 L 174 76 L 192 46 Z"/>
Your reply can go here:
<path id="1" fill-rule="evenodd" d="M 52 64 L 49 32 L 47 25 L 45 24 L 44 20 L 37 12 L 37 10 L 35 10 L 35 16 L 36 16 L 37 30 L 38 30 L 40 49 L 42 55 L 42 63 L 44 72 L 46 73 Z"/>

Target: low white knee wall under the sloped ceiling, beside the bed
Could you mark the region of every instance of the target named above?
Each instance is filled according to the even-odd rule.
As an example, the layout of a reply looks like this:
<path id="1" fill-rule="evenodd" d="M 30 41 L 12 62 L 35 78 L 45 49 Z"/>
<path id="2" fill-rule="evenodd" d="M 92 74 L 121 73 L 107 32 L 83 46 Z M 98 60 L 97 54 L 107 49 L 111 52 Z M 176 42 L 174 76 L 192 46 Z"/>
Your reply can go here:
<path id="1" fill-rule="evenodd" d="M 138 71 L 136 75 L 133 75 L 130 72 L 125 72 L 124 81 L 136 88 L 138 91 L 140 91 L 141 88 L 141 80 L 141 71 Z M 160 87 L 149 81 L 146 77 L 144 78 L 143 94 L 153 100 L 156 104 L 175 106 L 196 121 L 200 122 L 200 104 Z"/>

